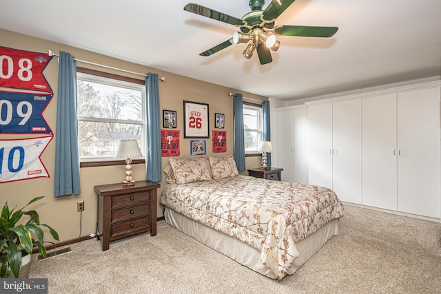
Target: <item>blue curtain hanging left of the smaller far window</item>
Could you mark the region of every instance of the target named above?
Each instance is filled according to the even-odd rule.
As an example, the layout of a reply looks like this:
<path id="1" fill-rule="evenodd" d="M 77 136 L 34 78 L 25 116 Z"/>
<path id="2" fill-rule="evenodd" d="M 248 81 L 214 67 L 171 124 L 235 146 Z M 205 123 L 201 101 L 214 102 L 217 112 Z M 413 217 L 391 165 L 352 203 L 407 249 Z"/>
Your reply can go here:
<path id="1" fill-rule="evenodd" d="M 243 97 L 234 95 L 234 160 L 237 169 L 245 171 L 245 131 L 243 129 Z"/>

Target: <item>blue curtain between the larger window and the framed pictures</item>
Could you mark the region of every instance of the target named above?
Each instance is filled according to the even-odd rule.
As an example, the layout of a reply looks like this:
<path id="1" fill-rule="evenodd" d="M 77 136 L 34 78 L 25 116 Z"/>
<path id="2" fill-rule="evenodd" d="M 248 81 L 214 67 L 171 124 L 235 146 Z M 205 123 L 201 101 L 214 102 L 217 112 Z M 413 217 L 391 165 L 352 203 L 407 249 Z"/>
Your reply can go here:
<path id="1" fill-rule="evenodd" d="M 146 178 L 152 182 L 161 180 L 161 113 L 159 111 L 158 74 L 145 76 L 147 96 L 147 154 Z"/>

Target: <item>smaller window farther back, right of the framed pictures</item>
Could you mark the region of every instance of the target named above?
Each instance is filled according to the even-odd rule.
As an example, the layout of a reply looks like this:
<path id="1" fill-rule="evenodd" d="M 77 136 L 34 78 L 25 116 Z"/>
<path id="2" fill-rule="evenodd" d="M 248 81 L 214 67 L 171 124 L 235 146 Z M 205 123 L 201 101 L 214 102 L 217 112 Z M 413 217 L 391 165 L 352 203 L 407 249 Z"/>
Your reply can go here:
<path id="1" fill-rule="evenodd" d="M 245 128 L 245 154 L 258 152 L 262 140 L 262 107 L 243 105 L 243 125 Z"/>

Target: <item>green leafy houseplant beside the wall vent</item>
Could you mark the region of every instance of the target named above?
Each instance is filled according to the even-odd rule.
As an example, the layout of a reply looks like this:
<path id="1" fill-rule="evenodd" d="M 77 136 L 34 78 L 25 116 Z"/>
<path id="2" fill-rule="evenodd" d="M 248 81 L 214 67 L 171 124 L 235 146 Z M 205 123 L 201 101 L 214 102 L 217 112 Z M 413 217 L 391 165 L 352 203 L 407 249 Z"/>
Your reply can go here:
<path id="1" fill-rule="evenodd" d="M 36 246 L 39 248 L 41 256 L 46 257 L 46 249 L 43 246 L 44 233 L 41 226 L 49 229 L 54 240 L 59 240 L 57 231 L 48 224 L 40 224 L 37 211 L 23 211 L 29 204 L 42 198 L 45 196 L 38 196 L 30 200 L 28 204 L 15 212 L 14 209 L 9 209 L 8 202 L 3 205 L 0 214 L 0 277 L 7 277 L 9 271 L 14 277 L 19 277 L 23 255 L 32 255 L 32 249 Z M 28 222 L 17 224 L 22 216 L 29 216 Z"/>

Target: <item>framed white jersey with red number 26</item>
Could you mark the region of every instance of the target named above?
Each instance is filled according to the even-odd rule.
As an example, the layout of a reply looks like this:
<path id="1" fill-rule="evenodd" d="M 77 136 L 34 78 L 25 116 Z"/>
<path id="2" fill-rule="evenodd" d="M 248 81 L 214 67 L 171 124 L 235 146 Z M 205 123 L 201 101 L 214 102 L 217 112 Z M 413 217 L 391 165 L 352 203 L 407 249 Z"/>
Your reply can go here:
<path id="1" fill-rule="evenodd" d="M 184 101 L 184 138 L 209 138 L 208 104 Z"/>

